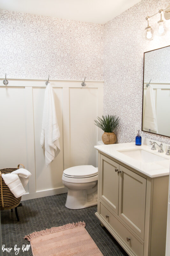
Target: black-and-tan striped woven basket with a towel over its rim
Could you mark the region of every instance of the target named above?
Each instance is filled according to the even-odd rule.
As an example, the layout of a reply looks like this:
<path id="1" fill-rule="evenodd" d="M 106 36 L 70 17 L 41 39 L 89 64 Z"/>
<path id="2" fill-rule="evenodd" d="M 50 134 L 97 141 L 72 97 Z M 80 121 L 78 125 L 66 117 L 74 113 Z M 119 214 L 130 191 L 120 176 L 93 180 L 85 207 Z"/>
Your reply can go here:
<path id="1" fill-rule="evenodd" d="M 21 196 L 16 198 L 11 190 L 8 188 L 8 186 L 5 184 L 3 178 L 2 178 L 2 174 L 4 173 L 11 173 L 15 170 L 19 169 L 19 165 L 17 168 L 5 168 L 5 169 L 1 169 L 0 170 L 0 209 L 1 210 L 7 210 L 7 209 L 12 209 L 15 208 L 19 205 L 20 201 L 21 201 Z M 23 165 L 23 164 L 21 164 Z M 23 165 L 23 168 L 24 165 Z"/>

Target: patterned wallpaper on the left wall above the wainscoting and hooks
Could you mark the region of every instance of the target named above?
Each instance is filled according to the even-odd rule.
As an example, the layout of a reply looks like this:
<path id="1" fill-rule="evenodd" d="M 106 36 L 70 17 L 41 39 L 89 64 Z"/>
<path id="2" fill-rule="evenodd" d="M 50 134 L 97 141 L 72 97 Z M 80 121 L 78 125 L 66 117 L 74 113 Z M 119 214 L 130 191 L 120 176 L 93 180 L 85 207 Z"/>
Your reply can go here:
<path id="1" fill-rule="evenodd" d="M 0 77 L 103 80 L 103 25 L 0 10 Z"/>

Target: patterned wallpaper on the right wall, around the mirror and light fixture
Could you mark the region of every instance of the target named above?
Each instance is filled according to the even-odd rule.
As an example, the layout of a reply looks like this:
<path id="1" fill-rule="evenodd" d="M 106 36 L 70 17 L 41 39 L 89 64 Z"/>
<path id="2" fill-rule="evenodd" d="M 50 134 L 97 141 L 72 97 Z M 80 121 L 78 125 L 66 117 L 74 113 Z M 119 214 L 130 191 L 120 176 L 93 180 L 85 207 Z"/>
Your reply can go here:
<path id="1" fill-rule="evenodd" d="M 170 44 L 169 31 L 165 36 L 155 36 L 146 41 L 143 31 L 146 16 L 164 9 L 169 0 L 142 0 L 104 25 L 104 113 L 121 119 L 117 142 L 135 141 L 135 125 L 142 127 L 143 56 L 144 52 Z M 150 20 L 154 28 L 160 20 L 157 14 Z M 170 143 L 170 138 L 141 132 L 154 140 Z"/>

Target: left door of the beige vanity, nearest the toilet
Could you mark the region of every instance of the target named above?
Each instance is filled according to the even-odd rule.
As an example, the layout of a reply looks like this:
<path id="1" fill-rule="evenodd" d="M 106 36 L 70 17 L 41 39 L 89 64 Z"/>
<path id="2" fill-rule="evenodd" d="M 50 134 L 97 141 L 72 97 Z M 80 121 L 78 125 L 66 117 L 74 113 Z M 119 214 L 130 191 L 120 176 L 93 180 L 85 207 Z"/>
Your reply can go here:
<path id="1" fill-rule="evenodd" d="M 119 164 L 100 155 L 100 198 L 118 214 Z"/>

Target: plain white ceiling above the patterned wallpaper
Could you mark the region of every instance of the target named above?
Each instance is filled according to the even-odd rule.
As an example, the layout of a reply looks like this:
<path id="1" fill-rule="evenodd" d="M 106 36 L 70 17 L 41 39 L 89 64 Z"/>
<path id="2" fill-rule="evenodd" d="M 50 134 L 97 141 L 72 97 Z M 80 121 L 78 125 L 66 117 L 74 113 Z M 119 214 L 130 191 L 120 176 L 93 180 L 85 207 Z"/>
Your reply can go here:
<path id="1" fill-rule="evenodd" d="M 0 0 L 0 9 L 105 24 L 141 0 Z"/>

